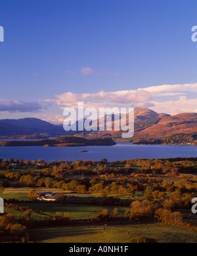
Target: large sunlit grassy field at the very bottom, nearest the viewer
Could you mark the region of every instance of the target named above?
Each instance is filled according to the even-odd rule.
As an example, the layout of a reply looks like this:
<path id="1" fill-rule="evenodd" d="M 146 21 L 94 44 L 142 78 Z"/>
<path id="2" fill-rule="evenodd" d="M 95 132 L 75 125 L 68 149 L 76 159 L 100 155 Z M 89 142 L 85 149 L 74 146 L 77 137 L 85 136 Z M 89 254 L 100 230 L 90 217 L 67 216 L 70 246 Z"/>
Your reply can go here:
<path id="1" fill-rule="evenodd" d="M 195 231 L 162 223 L 120 224 L 120 222 L 67 226 L 30 230 L 33 240 L 40 243 L 125 243 L 132 238 L 147 236 L 160 243 L 196 243 Z"/>

